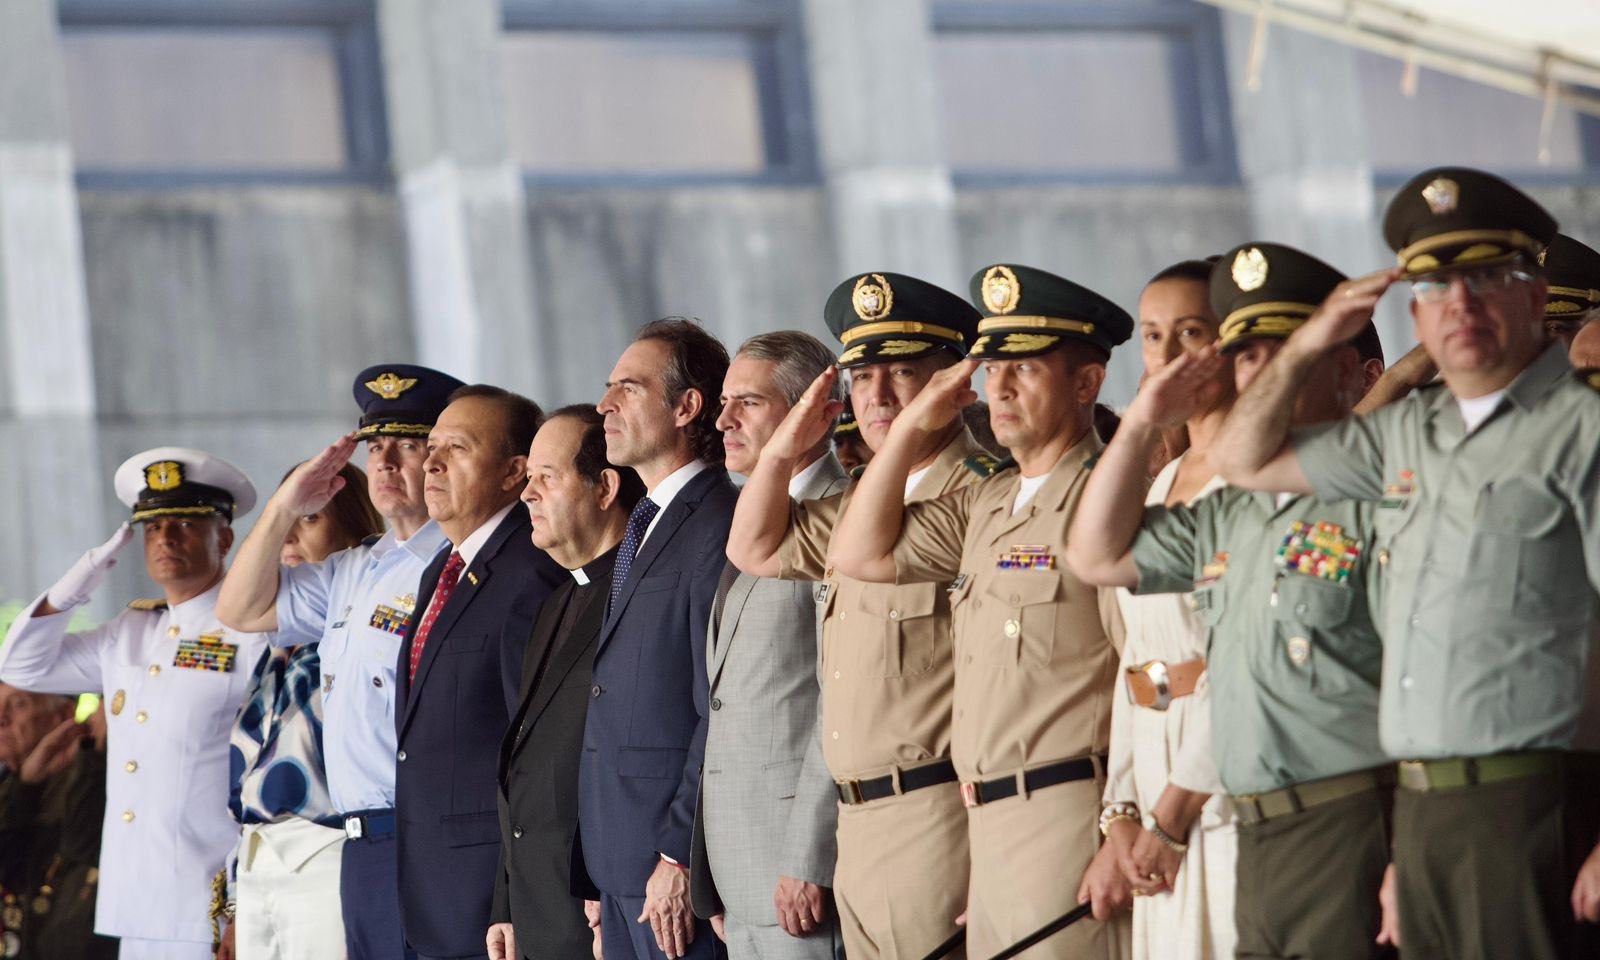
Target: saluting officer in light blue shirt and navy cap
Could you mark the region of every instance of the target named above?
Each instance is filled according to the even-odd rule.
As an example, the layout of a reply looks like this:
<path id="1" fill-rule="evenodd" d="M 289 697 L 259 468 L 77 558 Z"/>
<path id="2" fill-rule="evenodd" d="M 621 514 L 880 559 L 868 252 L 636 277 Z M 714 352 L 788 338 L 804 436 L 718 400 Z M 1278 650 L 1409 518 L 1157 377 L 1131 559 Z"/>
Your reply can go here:
<path id="1" fill-rule="evenodd" d="M 218 614 L 229 624 L 275 630 L 274 643 L 318 643 L 328 795 L 344 819 L 339 864 L 344 939 L 350 960 L 405 952 L 395 859 L 395 664 L 416 616 L 418 582 L 445 546 L 427 518 L 422 461 L 456 378 L 408 363 L 379 363 L 355 376 L 362 410 L 355 432 L 299 466 L 278 486 L 222 582 Z M 366 443 L 366 491 L 389 525 L 381 538 L 322 563 L 278 566 L 294 522 L 339 491 L 339 469 Z"/>

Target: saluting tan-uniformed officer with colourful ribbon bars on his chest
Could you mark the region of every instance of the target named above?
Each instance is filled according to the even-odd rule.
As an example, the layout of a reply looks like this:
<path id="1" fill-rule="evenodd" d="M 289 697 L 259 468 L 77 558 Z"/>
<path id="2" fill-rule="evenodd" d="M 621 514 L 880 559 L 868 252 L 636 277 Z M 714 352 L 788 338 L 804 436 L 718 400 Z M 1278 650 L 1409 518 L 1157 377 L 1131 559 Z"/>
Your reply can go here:
<path id="1" fill-rule="evenodd" d="M 997 264 L 973 277 L 989 314 L 968 362 L 942 371 L 867 464 L 832 542 L 834 565 L 872 582 L 949 581 L 955 618 L 952 757 L 966 805 L 966 949 L 992 957 L 1083 899 L 1123 899 L 1125 880 L 1077 878 L 1099 848 L 1101 794 L 1122 619 L 1112 590 L 1078 581 L 1066 531 L 1102 448 L 1094 400 L 1133 318 L 1043 270 Z M 978 395 L 1016 458 L 984 483 L 902 504 L 923 437 Z M 1104 910 L 1102 910 L 1104 915 Z M 1030 957 L 1125 957 L 1126 920 L 1088 920 Z"/>

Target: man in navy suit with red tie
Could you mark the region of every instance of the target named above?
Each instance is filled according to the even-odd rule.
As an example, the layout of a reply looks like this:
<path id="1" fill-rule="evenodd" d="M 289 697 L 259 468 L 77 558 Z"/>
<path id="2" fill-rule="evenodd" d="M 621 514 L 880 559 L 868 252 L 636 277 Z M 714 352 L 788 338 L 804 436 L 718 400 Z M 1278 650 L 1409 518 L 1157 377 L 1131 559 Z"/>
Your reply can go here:
<path id="1" fill-rule="evenodd" d="M 483 957 L 499 861 L 499 739 L 517 706 L 522 645 L 566 573 L 517 510 L 539 408 L 499 387 L 451 394 L 427 437 L 427 512 L 451 549 L 418 590 L 400 643 L 395 816 L 400 920 L 419 957 Z"/>

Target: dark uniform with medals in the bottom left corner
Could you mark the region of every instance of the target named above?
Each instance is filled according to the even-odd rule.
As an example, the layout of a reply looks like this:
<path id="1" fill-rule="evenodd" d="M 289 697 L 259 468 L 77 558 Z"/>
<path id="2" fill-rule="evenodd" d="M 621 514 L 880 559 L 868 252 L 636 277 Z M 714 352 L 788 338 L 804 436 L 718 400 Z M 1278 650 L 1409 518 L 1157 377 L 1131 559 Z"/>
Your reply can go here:
<path id="1" fill-rule="evenodd" d="M 0 957 L 112 960 L 94 934 L 106 755 L 85 746 L 43 784 L 0 782 Z"/>

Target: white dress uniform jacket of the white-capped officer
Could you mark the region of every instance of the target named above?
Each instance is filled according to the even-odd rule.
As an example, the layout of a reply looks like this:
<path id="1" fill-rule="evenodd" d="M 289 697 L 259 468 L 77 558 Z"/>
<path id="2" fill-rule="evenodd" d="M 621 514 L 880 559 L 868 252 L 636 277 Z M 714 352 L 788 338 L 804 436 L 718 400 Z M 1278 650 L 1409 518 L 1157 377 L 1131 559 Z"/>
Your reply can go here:
<path id="1" fill-rule="evenodd" d="M 72 613 L 18 616 L 0 682 L 106 698 L 106 826 L 94 930 L 211 942 L 211 877 L 238 840 L 229 731 L 267 646 L 216 619 L 218 587 L 69 634 Z M 29 610 L 35 610 L 43 597 Z"/>

